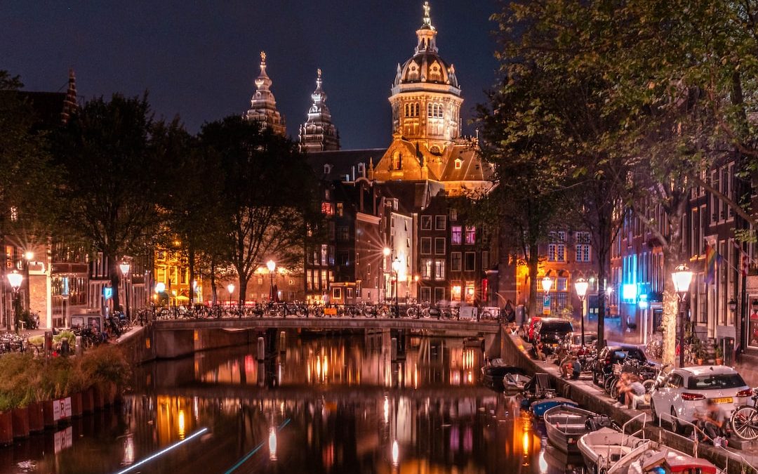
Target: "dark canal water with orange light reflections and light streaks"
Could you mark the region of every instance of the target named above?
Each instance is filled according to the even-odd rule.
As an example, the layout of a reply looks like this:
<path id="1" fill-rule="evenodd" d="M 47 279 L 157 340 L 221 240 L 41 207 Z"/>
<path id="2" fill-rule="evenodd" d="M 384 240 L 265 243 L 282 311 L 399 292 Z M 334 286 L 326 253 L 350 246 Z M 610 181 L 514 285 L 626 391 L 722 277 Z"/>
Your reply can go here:
<path id="1" fill-rule="evenodd" d="M 0 448 L 0 472 L 581 472 L 462 338 L 261 339 L 140 366 L 121 407 Z"/>

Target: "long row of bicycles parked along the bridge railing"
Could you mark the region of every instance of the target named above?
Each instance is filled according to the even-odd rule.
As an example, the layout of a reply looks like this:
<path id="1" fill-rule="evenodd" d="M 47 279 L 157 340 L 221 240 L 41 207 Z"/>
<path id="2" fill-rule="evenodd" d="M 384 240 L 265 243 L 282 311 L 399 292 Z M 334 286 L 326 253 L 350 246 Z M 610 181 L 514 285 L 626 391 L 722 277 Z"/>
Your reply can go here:
<path id="1" fill-rule="evenodd" d="M 475 319 L 500 319 L 500 314 L 489 310 L 477 311 Z M 461 319 L 460 308 L 455 305 L 430 303 L 357 303 L 315 304 L 299 301 L 257 303 L 243 306 L 170 306 L 143 309 L 137 312 L 139 321 L 147 319 L 222 319 L 222 318 L 408 318 L 408 319 Z"/>

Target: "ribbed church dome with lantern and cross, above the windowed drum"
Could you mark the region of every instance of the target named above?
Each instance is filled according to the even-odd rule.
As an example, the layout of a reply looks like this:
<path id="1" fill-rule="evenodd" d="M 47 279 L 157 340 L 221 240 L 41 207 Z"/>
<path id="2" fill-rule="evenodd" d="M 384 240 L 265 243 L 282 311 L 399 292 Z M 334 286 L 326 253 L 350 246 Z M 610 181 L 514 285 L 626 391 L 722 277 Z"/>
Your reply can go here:
<path id="1" fill-rule="evenodd" d="M 434 83 L 459 88 L 455 67 L 437 52 L 437 29 L 431 24 L 430 9 L 429 2 L 424 2 L 424 23 L 416 30 L 418 45 L 412 58 L 398 64 L 393 86 Z"/>

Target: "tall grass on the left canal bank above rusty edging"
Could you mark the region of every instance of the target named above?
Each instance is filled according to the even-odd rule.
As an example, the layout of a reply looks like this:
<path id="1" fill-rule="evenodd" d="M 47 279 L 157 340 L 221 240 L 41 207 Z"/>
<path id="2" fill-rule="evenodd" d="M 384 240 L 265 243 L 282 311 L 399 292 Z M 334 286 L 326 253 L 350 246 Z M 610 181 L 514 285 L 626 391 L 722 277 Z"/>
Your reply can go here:
<path id="1" fill-rule="evenodd" d="M 82 356 L 7 353 L 0 356 L 0 412 L 111 384 L 120 392 L 129 377 L 124 353 L 112 344 L 92 348 Z"/>

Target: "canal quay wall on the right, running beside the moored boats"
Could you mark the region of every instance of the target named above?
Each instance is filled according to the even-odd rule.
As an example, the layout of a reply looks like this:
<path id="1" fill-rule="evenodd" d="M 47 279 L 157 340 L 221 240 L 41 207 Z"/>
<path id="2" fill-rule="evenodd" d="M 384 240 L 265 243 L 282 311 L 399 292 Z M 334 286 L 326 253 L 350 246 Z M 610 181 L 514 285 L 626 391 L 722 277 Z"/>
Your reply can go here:
<path id="1" fill-rule="evenodd" d="M 517 337 L 508 334 L 505 329 L 501 331 L 500 335 L 500 357 L 513 366 L 521 367 L 534 375 L 535 372 L 545 372 L 550 376 L 553 387 L 556 388 L 558 394 L 571 398 L 575 402 L 579 403 L 582 407 L 595 413 L 609 416 L 613 421 L 619 424 L 619 426 L 628 422 L 634 416 L 643 413 L 639 410 L 628 410 L 623 407 L 614 407 L 612 400 L 605 392 L 600 388 L 595 387 L 592 381 L 568 381 L 559 376 L 559 369 L 554 363 L 538 362 L 528 355 L 528 344 L 522 341 L 521 337 Z M 645 435 L 649 439 L 658 440 L 666 446 L 673 447 L 676 450 L 680 450 L 683 453 L 694 454 L 697 452 L 699 457 L 709 460 L 716 464 L 716 466 L 728 465 L 729 474 L 744 474 L 743 466 L 748 468 L 747 472 L 750 472 L 750 466 L 755 465 L 755 454 L 747 453 L 741 454 L 748 458 L 747 463 L 743 463 L 739 454 L 731 453 L 728 450 L 722 448 L 713 447 L 710 444 L 699 444 L 689 438 L 676 435 L 670 432 L 666 428 L 661 428 L 657 425 L 652 425 L 650 419 L 650 410 L 647 410 L 647 421 L 645 425 Z M 636 432 L 642 428 L 642 422 L 631 422 L 627 428 L 627 432 Z M 697 451 L 696 451 L 697 450 Z M 727 460 L 728 457 L 728 460 Z M 755 469 L 753 469 L 753 472 Z"/>

